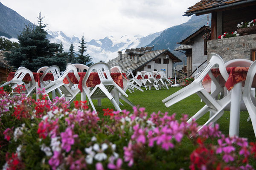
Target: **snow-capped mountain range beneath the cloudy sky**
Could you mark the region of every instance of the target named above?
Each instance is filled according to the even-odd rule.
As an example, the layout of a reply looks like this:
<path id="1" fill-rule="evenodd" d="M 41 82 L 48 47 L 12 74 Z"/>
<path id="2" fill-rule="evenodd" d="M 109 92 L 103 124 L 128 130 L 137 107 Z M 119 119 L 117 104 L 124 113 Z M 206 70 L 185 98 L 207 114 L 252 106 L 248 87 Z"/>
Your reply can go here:
<path id="1" fill-rule="evenodd" d="M 150 34 L 146 37 L 141 35 L 135 35 L 134 37 L 129 37 L 127 35 L 116 38 L 113 36 L 108 36 L 99 40 L 90 40 L 87 42 L 87 54 L 89 54 L 93 62 L 99 62 L 100 60 L 108 61 L 118 56 L 118 51 L 125 51 L 127 48 L 137 48 L 144 47 L 158 37 L 161 32 Z M 48 40 L 50 42 L 61 43 L 64 46 L 64 51 L 68 51 L 71 42 L 75 46 L 77 51 L 80 45 L 78 37 L 68 37 L 62 31 L 48 31 Z"/>

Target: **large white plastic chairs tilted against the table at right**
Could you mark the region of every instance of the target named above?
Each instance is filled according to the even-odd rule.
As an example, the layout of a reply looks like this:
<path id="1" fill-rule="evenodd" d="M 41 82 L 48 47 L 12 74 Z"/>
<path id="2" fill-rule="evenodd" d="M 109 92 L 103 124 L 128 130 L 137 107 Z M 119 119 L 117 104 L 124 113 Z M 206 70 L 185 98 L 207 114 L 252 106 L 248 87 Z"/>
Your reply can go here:
<path id="1" fill-rule="evenodd" d="M 188 122 L 192 122 L 193 119 L 197 120 L 205 113 L 210 111 L 209 120 L 206 123 L 204 123 L 204 125 L 201 126 L 201 128 L 199 128 L 198 130 L 201 130 L 205 125 L 215 123 L 224 114 L 224 111 L 232 110 L 230 106 L 232 98 L 231 91 L 227 91 L 225 87 L 221 87 L 221 84 L 219 83 L 218 79 L 212 75 L 211 68 L 213 68 L 215 65 L 218 65 L 220 74 L 225 81 L 227 81 L 229 77 L 229 74 L 227 73 L 226 70 L 227 67 L 250 67 L 247 73 L 244 88 L 242 88 L 240 108 L 241 111 L 249 112 L 250 118 L 252 119 L 254 133 L 256 136 L 256 98 L 255 90 L 252 90 L 251 88 L 253 77 L 256 73 L 256 62 L 252 62 L 247 59 L 234 59 L 224 64 L 220 56 L 218 56 L 217 54 L 210 54 L 210 60 L 207 66 L 198 75 L 198 77 L 190 85 L 170 95 L 166 99 L 163 99 L 162 102 L 166 105 L 166 107 L 169 107 L 179 102 L 180 100 L 185 99 L 186 97 L 196 93 L 203 100 L 203 102 L 205 102 L 206 105 L 203 108 L 201 108 L 200 111 L 195 113 L 195 115 L 193 115 L 188 120 Z M 202 81 L 207 74 L 209 74 L 209 77 L 212 79 L 211 94 L 209 94 L 202 85 Z M 237 97 L 239 97 L 239 95 Z M 230 122 L 230 124 L 234 123 L 235 122 Z M 237 126 L 237 128 L 239 128 L 239 125 Z"/>

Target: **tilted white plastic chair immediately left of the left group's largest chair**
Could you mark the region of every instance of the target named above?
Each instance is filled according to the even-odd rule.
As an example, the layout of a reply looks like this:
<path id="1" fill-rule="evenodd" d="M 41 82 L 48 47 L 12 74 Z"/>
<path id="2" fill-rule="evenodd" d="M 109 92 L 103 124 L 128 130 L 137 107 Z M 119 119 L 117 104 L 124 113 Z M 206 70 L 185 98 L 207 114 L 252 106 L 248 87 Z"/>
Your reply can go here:
<path id="1" fill-rule="evenodd" d="M 68 73 L 70 72 L 74 73 L 77 81 L 79 82 L 80 77 L 78 75 L 76 67 L 71 63 L 67 63 L 66 70 L 63 72 L 63 74 L 61 74 L 61 76 L 58 79 L 56 79 L 54 82 L 44 87 L 45 93 L 48 94 L 49 92 L 59 88 L 63 94 L 61 97 L 65 97 L 66 101 L 73 102 L 73 100 L 76 99 L 76 95 L 79 93 L 80 90 L 79 88 L 76 88 L 74 90 L 71 89 L 71 87 L 73 86 L 73 83 L 68 77 Z M 67 78 L 67 80 L 69 81 L 69 84 L 65 84 L 63 82 L 65 78 Z"/>

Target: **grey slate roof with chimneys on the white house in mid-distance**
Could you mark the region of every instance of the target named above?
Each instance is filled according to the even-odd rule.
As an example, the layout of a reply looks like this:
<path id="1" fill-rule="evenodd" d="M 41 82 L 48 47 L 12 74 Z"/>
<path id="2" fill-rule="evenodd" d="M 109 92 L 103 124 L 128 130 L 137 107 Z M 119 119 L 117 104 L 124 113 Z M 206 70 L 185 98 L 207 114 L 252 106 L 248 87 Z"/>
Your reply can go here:
<path id="1" fill-rule="evenodd" d="M 111 61 L 107 62 L 107 64 L 111 68 L 113 66 L 118 65 L 121 68 L 122 72 L 126 72 L 130 68 L 134 72 L 142 68 L 148 62 L 151 62 L 153 59 L 159 57 L 162 54 L 169 55 L 170 59 L 172 59 L 173 62 L 181 62 L 180 59 L 178 59 L 174 54 L 172 54 L 168 50 L 156 50 L 156 51 L 145 51 L 145 54 L 140 56 L 140 61 L 138 63 L 135 63 L 135 59 L 131 59 L 131 57 L 129 57 L 128 54 L 126 53 L 126 54 L 122 54 L 122 59 L 120 61 L 118 57 L 116 57 Z"/>

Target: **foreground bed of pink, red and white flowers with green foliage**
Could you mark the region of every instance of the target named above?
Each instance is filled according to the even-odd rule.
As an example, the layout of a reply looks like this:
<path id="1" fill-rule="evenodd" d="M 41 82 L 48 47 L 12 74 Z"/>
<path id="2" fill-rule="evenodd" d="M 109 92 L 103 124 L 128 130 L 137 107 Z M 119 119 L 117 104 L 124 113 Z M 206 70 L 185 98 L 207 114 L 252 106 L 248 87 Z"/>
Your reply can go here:
<path id="1" fill-rule="evenodd" d="M 215 127 L 197 133 L 188 116 L 106 109 L 100 119 L 85 102 L 35 102 L 0 89 L 0 166 L 17 169 L 252 170 L 256 143 Z M 214 142 L 215 141 L 215 142 Z M 5 159 L 4 159 L 5 158 Z"/>

